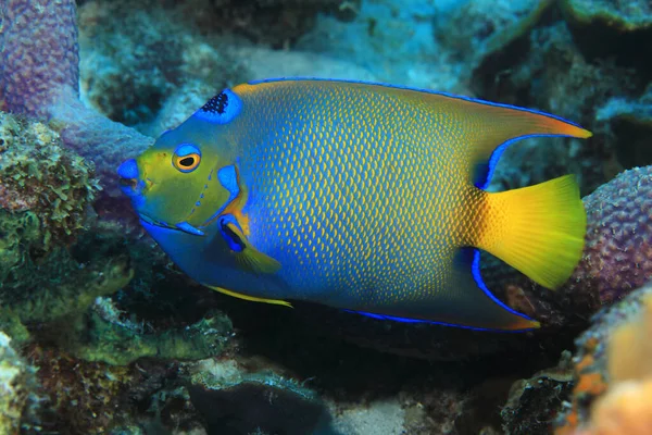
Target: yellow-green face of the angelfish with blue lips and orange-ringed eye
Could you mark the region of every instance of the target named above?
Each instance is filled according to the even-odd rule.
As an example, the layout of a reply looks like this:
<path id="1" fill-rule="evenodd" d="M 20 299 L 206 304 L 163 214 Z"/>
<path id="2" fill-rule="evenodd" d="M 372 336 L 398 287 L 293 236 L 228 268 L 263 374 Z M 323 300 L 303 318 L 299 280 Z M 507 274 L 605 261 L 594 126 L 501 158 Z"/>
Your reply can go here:
<path id="1" fill-rule="evenodd" d="M 202 235 L 237 196 L 235 174 L 228 171 L 235 166 L 221 152 L 224 135 L 205 124 L 191 116 L 117 169 L 122 191 L 141 221 Z"/>

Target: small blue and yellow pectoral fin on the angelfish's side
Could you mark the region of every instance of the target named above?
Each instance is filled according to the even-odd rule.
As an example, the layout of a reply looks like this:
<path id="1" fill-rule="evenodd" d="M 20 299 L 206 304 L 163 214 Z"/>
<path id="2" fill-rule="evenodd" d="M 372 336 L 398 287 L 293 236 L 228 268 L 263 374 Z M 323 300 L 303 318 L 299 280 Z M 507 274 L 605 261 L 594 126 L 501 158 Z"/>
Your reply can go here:
<path id="1" fill-rule="evenodd" d="M 254 273 L 276 273 L 280 270 L 280 263 L 272 257 L 255 249 L 242 234 L 238 221 L 226 214 L 220 217 L 220 233 L 230 247 L 238 264 Z"/>

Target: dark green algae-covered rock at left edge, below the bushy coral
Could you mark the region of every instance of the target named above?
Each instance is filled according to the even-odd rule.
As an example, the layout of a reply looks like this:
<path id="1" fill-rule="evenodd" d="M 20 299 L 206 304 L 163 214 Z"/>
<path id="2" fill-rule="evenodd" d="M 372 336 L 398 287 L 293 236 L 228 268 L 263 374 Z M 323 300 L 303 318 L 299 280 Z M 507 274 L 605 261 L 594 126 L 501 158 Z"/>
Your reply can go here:
<path id="1" fill-rule="evenodd" d="M 120 245 L 120 238 L 83 232 L 76 244 L 54 248 L 38 264 L 25 254 L 2 282 L 0 327 L 20 343 L 32 333 L 54 340 L 76 336 L 95 299 L 131 279 L 128 252 Z"/>

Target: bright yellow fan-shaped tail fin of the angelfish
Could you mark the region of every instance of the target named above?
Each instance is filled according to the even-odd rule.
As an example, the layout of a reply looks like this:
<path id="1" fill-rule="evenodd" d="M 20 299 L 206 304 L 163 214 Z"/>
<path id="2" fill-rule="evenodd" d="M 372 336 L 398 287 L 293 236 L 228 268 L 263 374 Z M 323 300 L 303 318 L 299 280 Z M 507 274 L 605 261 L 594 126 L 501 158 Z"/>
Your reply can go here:
<path id="1" fill-rule="evenodd" d="M 540 285 L 555 289 L 581 259 L 587 214 L 575 176 L 486 194 L 486 229 L 478 248 Z"/>

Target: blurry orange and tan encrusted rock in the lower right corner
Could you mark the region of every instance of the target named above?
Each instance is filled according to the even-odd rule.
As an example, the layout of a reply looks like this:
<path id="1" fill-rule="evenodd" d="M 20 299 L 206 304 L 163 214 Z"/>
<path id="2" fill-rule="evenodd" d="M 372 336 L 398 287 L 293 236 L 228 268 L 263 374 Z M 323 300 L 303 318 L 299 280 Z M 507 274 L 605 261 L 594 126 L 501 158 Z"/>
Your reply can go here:
<path id="1" fill-rule="evenodd" d="M 506 434 L 643 435 L 652 427 L 649 335 L 652 286 L 603 309 L 573 358 L 516 382 L 502 410 Z"/>

